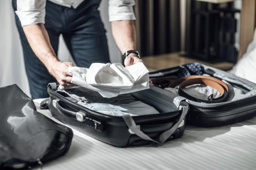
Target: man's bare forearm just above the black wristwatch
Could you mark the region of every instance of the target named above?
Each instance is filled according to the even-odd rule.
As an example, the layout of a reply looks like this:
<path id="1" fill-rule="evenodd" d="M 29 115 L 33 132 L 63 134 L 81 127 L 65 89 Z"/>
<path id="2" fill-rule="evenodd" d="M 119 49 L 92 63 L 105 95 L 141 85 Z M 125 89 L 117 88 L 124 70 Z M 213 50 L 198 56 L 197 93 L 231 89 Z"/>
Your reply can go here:
<path id="1" fill-rule="evenodd" d="M 133 20 L 113 21 L 111 26 L 116 45 L 122 54 L 125 50 L 137 50 L 136 30 Z"/>

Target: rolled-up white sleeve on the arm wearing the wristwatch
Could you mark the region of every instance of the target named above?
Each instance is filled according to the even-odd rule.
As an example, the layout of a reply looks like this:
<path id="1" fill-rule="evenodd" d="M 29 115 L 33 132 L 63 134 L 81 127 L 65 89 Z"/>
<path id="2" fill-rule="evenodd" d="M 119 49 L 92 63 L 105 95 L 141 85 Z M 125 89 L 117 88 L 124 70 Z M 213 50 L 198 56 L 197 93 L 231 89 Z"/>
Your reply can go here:
<path id="1" fill-rule="evenodd" d="M 134 0 L 109 0 L 109 21 L 136 20 L 133 11 L 134 5 Z"/>

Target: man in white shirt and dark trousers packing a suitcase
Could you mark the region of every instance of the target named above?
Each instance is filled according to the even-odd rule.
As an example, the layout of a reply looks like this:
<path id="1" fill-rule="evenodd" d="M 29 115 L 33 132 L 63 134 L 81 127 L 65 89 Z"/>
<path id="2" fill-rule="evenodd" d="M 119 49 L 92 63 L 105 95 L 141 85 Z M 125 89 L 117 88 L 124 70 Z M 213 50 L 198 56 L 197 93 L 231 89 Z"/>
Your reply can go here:
<path id="1" fill-rule="evenodd" d="M 32 99 L 47 97 L 47 84 L 55 79 L 63 88 L 72 86 L 68 66 L 73 64 L 57 58 L 60 34 L 77 66 L 110 62 L 97 10 L 100 0 L 12 0 L 12 4 Z M 136 51 L 134 4 L 134 0 L 109 0 L 112 33 L 125 66 L 142 62 Z"/>

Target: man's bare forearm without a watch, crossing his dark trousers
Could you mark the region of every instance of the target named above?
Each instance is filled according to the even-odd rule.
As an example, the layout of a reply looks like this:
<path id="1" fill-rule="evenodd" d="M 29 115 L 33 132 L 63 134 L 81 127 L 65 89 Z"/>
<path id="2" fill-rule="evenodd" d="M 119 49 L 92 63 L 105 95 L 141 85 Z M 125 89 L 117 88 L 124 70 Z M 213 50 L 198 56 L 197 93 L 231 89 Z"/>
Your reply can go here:
<path id="1" fill-rule="evenodd" d="M 50 44 L 44 24 L 23 26 L 23 30 L 35 55 L 44 63 L 49 72 L 51 72 L 51 65 L 59 60 Z"/>

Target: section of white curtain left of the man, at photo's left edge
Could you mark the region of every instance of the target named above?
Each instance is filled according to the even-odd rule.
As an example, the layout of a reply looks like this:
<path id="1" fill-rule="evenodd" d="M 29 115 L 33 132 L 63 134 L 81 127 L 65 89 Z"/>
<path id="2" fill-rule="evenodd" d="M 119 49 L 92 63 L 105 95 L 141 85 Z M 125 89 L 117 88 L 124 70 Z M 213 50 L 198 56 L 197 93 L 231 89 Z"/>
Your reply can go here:
<path id="1" fill-rule="evenodd" d="M 29 94 L 11 0 L 0 0 L 0 87 L 17 84 Z"/>

